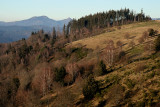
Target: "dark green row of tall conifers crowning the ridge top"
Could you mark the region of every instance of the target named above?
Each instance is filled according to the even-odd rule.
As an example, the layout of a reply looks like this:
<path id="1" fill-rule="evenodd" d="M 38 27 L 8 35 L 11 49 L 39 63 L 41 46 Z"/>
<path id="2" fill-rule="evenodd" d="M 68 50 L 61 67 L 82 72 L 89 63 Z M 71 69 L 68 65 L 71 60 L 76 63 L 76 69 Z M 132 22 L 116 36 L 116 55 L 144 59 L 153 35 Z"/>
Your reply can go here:
<path id="1" fill-rule="evenodd" d="M 145 16 L 143 12 L 139 14 L 133 14 L 133 11 L 125 8 L 117 11 L 110 10 L 108 12 L 88 15 L 78 20 L 73 19 L 73 21 L 71 22 L 71 30 L 77 30 L 85 27 L 88 30 L 92 31 L 94 27 L 104 28 L 115 25 L 127 24 L 128 21 L 135 22 L 147 20 L 151 20 L 151 18 Z"/>

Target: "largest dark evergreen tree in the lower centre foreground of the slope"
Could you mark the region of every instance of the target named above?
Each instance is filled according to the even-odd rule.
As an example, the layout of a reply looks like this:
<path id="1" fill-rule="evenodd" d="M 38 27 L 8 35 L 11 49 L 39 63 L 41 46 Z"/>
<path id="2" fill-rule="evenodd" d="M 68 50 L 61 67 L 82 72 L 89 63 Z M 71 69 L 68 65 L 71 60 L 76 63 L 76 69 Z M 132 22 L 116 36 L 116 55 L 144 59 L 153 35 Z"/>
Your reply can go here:
<path id="1" fill-rule="evenodd" d="M 89 76 L 86 84 L 83 86 L 83 95 L 86 99 L 92 99 L 99 90 L 98 82 L 93 76 Z"/>

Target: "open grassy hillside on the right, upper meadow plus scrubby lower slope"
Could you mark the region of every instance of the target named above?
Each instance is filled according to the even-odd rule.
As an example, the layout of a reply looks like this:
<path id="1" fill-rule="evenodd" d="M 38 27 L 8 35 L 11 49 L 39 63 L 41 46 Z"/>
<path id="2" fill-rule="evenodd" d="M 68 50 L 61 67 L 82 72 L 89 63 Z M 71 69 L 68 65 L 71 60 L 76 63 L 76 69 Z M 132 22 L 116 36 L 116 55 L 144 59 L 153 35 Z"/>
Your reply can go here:
<path id="1" fill-rule="evenodd" d="M 147 29 L 156 29 L 160 31 L 159 21 L 141 22 L 121 26 L 121 29 L 113 27 L 105 29 L 105 33 L 85 38 L 68 44 L 67 47 L 85 46 L 93 49 L 80 63 L 91 63 L 97 58 L 101 58 L 105 47 L 109 40 L 113 40 L 116 46 L 117 41 L 125 44 L 122 50 L 127 52 L 127 59 L 117 63 L 113 72 L 104 76 L 95 77 L 99 81 L 101 92 L 87 102 L 83 102 L 83 96 L 80 95 L 76 104 L 83 102 L 80 106 L 96 106 L 96 107 L 142 107 L 142 106 L 159 106 L 160 102 L 160 54 L 153 54 L 153 42 L 155 38 L 150 38 L 143 43 L 139 43 L 139 38 Z M 109 32 L 108 32 L 109 31 Z M 130 38 L 126 39 L 125 34 L 129 33 Z M 134 41 L 135 45 L 130 46 L 130 42 Z M 152 49 L 149 49 L 150 42 Z M 99 56 L 98 56 L 98 55 Z M 103 57 L 102 57 L 103 58 Z M 91 60 L 91 62 L 89 61 Z M 124 63 L 127 60 L 127 63 Z M 110 69 L 110 68 L 109 68 Z M 76 85 L 76 84 L 75 84 Z M 71 89 L 75 89 L 72 86 Z"/>

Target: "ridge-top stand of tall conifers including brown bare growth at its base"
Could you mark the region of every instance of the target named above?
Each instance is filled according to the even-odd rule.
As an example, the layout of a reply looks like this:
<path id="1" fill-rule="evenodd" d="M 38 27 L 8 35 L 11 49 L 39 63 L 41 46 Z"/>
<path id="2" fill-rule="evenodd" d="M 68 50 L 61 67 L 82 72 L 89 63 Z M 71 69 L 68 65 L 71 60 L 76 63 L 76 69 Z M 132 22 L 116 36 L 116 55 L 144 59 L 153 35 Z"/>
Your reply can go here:
<path id="1" fill-rule="evenodd" d="M 84 38 L 86 36 L 94 35 L 97 32 L 101 33 L 105 27 L 120 26 L 128 23 L 143 22 L 151 20 L 149 16 L 145 16 L 143 10 L 141 13 L 134 13 L 133 11 L 125 8 L 121 10 L 110 10 L 97 14 L 91 14 L 82 17 L 78 20 L 73 19 L 68 24 L 67 33 L 72 40 Z"/>

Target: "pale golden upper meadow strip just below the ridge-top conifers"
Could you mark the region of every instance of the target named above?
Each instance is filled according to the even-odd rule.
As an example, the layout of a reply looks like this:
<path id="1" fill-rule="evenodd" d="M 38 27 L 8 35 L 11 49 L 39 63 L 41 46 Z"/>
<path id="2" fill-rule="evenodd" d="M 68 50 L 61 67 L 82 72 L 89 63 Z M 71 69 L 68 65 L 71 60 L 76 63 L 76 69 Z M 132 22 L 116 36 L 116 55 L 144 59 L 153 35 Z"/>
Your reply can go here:
<path id="1" fill-rule="evenodd" d="M 100 49 L 103 49 L 106 46 L 106 41 L 110 39 L 112 39 L 115 44 L 118 40 L 121 40 L 124 44 L 129 43 L 129 41 L 131 40 L 134 40 L 135 44 L 138 44 L 138 38 L 141 37 L 143 32 L 147 31 L 149 28 L 153 28 L 160 32 L 160 22 L 150 21 L 150 22 L 141 22 L 141 23 L 123 25 L 120 30 L 117 29 L 113 32 L 106 32 L 94 37 L 78 40 L 73 42 L 72 46 L 77 46 L 78 44 L 82 44 L 82 45 L 86 45 L 87 48 L 91 48 L 94 50 L 96 50 L 97 46 L 99 46 Z M 129 33 L 131 35 L 131 39 L 127 40 L 124 38 L 124 35 L 126 33 Z M 127 47 L 128 47 L 128 44 L 124 46 L 125 49 Z"/>

